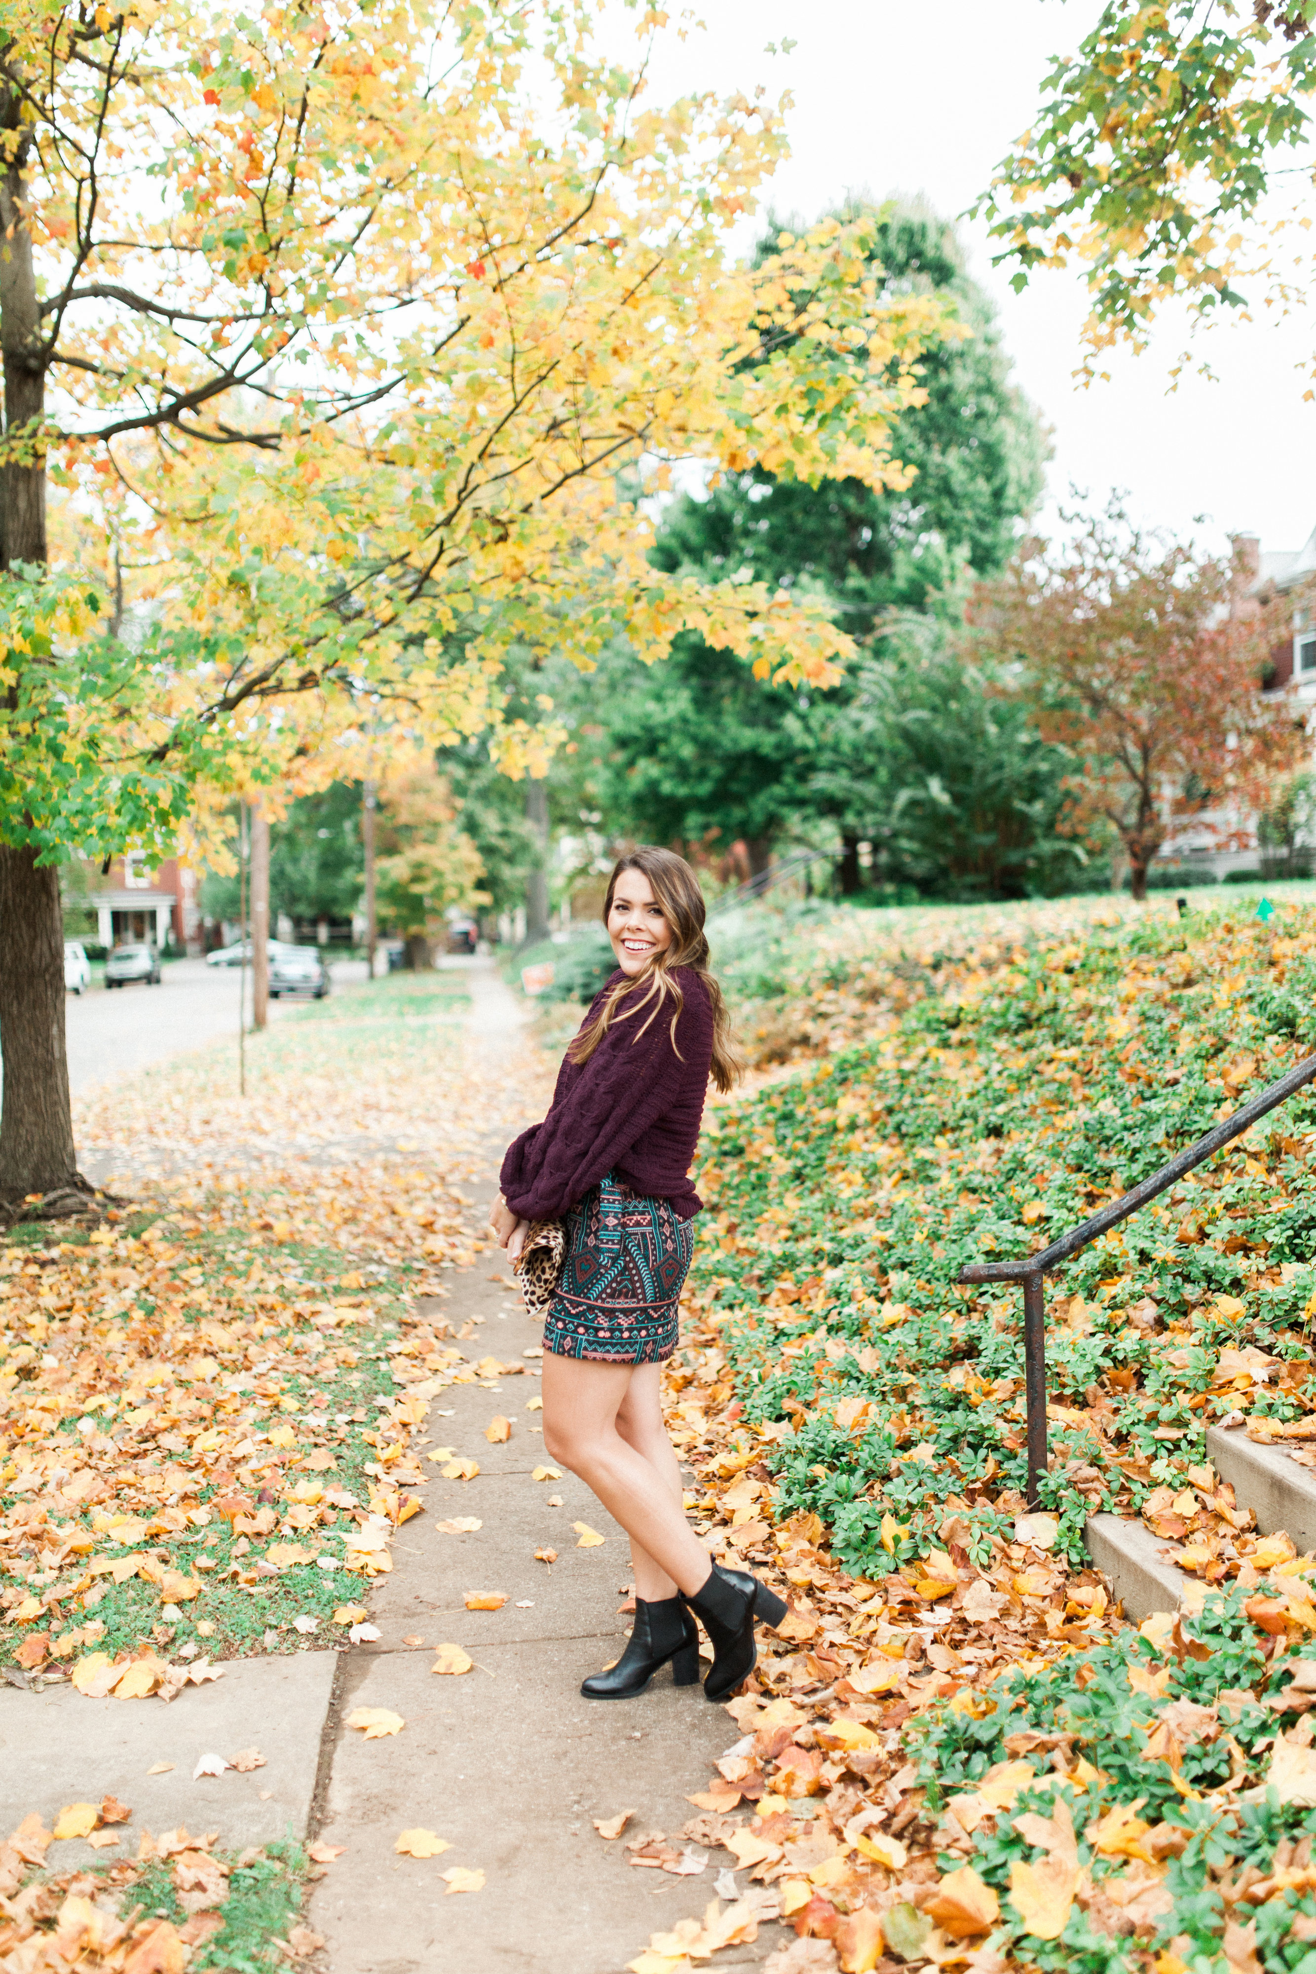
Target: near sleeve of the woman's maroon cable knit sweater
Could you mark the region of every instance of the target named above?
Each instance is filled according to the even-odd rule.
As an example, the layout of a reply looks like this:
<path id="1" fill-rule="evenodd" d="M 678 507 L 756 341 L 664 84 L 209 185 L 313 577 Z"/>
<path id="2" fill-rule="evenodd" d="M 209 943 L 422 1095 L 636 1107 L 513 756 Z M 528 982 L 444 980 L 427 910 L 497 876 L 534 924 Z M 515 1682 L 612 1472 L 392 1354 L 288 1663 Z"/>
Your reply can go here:
<path id="1" fill-rule="evenodd" d="M 592 1011 L 590 1011 L 592 1013 Z M 503 1198 L 521 1220 L 560 1220 L 673 1103 L 691 1044 L 708 1021 L 702 995 L 685 995 L 671 1036 L 671 1005 L 651 1021 L 614 1021 L 590 1060 L 552 1100 L 543 1123 L 515 1139 L 503 1159 Z M 647 1026 L 645 1026 L 647 1023 Z"/>

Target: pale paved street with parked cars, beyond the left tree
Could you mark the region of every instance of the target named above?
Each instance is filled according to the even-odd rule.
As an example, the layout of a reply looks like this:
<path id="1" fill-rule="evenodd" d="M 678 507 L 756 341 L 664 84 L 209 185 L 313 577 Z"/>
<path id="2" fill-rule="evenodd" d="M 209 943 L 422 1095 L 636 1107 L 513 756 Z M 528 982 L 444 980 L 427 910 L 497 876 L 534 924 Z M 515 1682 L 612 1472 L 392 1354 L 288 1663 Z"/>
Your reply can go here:
<path id="1" fill-rule="evenodd" d="M 335 959 L 335 985 L 365 979 L 363 959 Z M 251 1007 L 251 975 L 247 979 Z M 221 1034 L 237 1048 L 237 967 L 207 967 L 203 959 L 174 959 L 164 967 L 160 987 L 89 987 L 65 997 L 69 1042 L 69 1084 L 73 1096 L 95 1084 L 109 1084 L 150 1062 L 164 1062 L 185 1048 L 199 1048 Z M 270 1021 L 278 1021 L 300 1001 L 270 1001 Z"/>

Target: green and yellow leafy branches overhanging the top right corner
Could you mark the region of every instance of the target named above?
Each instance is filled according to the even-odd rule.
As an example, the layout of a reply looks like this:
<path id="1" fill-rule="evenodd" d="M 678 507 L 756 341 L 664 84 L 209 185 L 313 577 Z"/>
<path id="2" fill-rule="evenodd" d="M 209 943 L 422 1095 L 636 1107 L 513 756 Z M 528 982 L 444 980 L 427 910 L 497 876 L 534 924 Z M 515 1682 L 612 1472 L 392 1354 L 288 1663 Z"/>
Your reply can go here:
<path id="1" fill-rule="evenodd" d="M 1083 270 L 1089 369 L 1113 342 L 1142 345 L 1172 296 L 1200 322 L 1249 288 L 1304 298 L 1314 24 L 1312 0 L 1105 0 L 1052 61 L 981 209 L 1016 288 L 1038 266 Z"/>

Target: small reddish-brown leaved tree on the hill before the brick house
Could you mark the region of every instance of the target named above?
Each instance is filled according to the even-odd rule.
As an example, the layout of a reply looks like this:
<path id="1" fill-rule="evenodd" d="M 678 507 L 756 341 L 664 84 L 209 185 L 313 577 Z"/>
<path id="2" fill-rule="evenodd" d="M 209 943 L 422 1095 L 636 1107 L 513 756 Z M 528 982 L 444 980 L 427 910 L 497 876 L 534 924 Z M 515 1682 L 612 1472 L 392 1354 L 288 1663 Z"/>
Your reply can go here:
<path id="1" fill-rule="evenodd" d="M 1034 543 L 975 616 L 998 659 L 1022 667 L 1042 732 L 1075 756 L 1061 827 L 1115 829 L 1134 898 L 1188 821 L 1221 847 L 1251 841 L 1302 728 L 1261 691 L 1269 632 L 1241 559 L 1144 535 L 1111 509 L 1069 543 Z"/>

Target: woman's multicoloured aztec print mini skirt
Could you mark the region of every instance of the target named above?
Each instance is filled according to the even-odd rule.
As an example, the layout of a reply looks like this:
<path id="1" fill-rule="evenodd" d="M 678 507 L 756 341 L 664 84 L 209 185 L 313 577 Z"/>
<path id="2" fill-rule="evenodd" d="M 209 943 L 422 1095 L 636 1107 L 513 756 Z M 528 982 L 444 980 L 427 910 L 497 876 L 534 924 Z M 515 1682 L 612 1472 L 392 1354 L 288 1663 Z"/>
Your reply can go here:
<path id="1" fill-rule="evenodd" d="M 606 1364 L 661 1364 L 677 1348 L 677 1305 L 695 1224 L 612 1173 L 566 1214 L 566 1259 L 545 1319 L 545 1350 Z"/>

